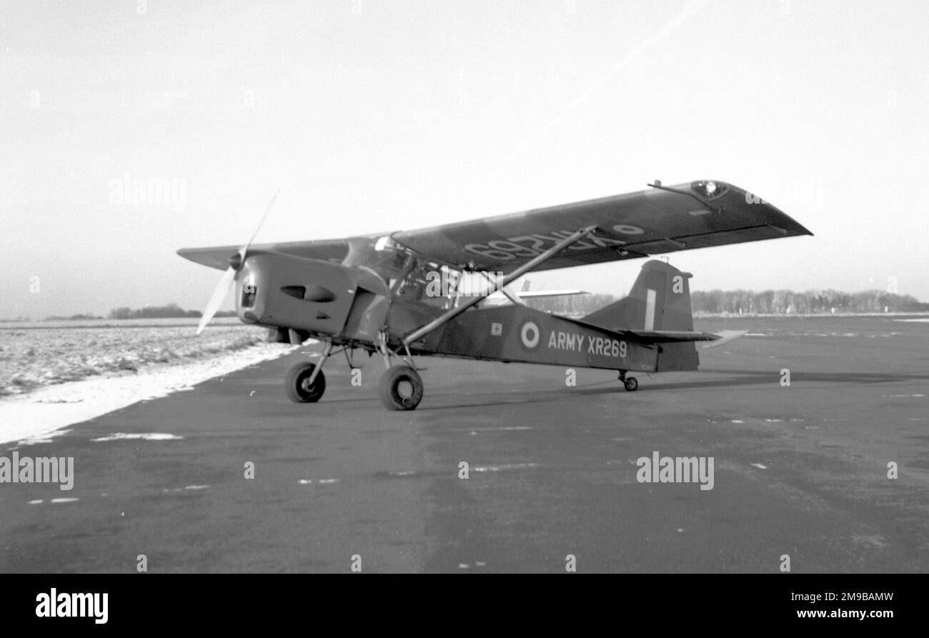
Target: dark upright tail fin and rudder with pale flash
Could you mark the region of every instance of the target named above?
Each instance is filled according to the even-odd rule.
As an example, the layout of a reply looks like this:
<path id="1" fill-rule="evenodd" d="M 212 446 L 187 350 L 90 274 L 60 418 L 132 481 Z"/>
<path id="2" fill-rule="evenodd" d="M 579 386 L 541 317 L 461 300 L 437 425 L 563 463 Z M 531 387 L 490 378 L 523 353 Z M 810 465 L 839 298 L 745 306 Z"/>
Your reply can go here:
<path id="1" fill-rule="evenodd" d="M 690 273 L 652 259 L 642 266 L 629 296 L 581 320 L 614 331 L 690 332 Z M 700 358 L 692 342 L 661 344 L 659 371 L 697 370 Z"/>

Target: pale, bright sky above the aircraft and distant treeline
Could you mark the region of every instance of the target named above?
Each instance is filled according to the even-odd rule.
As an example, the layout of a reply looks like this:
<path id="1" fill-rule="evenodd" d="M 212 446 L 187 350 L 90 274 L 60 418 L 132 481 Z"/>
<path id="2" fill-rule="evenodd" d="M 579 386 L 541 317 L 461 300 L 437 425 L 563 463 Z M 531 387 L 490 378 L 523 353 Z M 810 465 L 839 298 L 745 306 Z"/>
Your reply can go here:
<path id="1" fill-rule="evenodd" d="M 918 1 L 0 0 L 0 318 L 202 308 L 221 273 L 177 249 L 247 241 L 279 188 L 259 242 L 704 178 L 815 237 L 669 255 L 694 290 L 929 301 L 927 25 Z M 639 264 L 530 279 L 619 295 Z"/>

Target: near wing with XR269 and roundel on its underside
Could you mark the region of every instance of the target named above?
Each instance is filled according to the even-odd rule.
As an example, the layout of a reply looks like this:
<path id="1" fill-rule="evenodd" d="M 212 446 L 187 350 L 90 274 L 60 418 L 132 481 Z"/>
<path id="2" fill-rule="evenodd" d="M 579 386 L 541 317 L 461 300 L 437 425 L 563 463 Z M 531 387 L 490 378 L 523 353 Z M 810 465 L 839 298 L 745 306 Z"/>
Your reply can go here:
<path id="1" fill-rule="evenodd" d="M 699 181 L 588 202 L 394 233 L 438 263 L 511 272 L 579 228 L 595 226 L 537 270 L 812 235 L 771 204 L 724 182 Z"/>

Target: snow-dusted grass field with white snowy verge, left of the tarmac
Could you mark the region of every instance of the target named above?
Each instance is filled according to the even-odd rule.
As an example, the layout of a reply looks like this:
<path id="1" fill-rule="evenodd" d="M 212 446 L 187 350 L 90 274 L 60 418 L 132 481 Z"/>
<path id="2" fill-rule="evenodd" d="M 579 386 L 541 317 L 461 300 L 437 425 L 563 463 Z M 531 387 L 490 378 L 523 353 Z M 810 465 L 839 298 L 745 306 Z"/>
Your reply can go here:
<path id="1" fill-rule="evenodd" d="M 292 345 L 218 319 L 0 324 L 0 443 L 41 443 L 50 433 L 112 410 L 281 357 Z"/>

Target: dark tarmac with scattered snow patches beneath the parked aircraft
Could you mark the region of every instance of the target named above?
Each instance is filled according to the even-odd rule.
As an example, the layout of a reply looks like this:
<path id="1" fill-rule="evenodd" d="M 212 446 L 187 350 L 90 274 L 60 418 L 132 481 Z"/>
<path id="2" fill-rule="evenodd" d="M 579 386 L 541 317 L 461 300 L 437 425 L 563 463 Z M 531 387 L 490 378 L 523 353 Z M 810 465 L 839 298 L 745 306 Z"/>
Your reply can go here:
<path id="1" fill-rule="evenodd" d="M 290 402 L 305 348 L 0 446 L 74 460 L 0 484 L 0 572 L 926 572 L 929 323 L 897 319 L 702 319 L 749 334 L 636 392 L 419 358 L 410 412 L 362 355 Z M 712 489 L 642 482 L 656 453 Z"/>

